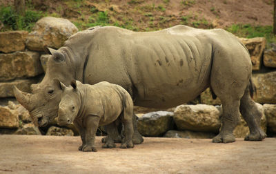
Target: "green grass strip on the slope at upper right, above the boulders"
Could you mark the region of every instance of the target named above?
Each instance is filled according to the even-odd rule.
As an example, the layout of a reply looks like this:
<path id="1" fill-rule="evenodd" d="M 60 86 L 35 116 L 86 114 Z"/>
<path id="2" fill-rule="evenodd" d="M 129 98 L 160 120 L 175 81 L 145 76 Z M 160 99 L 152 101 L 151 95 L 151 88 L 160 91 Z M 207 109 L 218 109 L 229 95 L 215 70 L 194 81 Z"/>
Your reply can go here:
<path id="1" fill-rule="evenodd" d="M 233 33 L 234 35 L 237 35 L 238 37 L 265 37 L 267 46 L 269 46 L 271 42 L 276 42 L 276 37 L 273 35 L 273 26 L 251 26 L 250 24 L 235 24 L 226 28 L 226 30 Z"/>

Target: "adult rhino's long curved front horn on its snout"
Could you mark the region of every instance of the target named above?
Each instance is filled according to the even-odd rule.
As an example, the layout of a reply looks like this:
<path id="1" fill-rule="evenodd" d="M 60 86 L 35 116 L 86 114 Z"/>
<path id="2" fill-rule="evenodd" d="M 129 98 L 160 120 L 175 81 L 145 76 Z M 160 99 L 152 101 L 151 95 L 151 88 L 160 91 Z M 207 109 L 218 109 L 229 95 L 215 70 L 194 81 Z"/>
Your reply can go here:
<path id="1" fill-rule="evenodd" d="M 13 93 L 14 96 L 17 98 L 17 101 L 19 101 L 19 103 L 24 106 L 24 108 L 29 111 L 34 108 L 34 106 L 32 106 L 32 104 L 30 103 L 31 94 L 22 92 L 17 88 L 17 86 L 13 86 Z"/>

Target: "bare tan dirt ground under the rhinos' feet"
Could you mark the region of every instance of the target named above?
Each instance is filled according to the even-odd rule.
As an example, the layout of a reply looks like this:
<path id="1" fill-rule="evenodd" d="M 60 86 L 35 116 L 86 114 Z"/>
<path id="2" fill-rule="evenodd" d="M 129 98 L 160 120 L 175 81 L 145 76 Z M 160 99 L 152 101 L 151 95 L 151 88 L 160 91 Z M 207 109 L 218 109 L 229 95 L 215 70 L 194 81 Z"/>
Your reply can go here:
<path id="1" fill-rule="evenodd" d="M 0 173 L 276 173 L 276 139 L 213 144 L 146 137 L 132 149 L 77 148 L 79 137 L 0 135 Z"/>

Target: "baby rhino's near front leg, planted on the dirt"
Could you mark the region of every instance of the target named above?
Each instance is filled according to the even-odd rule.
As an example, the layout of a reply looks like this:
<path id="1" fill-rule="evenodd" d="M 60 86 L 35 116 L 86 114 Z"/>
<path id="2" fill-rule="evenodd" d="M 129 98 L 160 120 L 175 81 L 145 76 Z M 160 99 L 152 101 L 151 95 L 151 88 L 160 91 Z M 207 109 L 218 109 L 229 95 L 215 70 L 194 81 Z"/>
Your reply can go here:
<path id="1" fill-rule="evenodd" d="M 99 126 L 99 117 L 95 115 L 88 115 L 86 118 L 86 129 L 85 129 L 85 142 L 86 144 L 83 146 L 83 152 L 94 151 L 97 152 L 95 148 L 95 137 L 97 128 Z"/>

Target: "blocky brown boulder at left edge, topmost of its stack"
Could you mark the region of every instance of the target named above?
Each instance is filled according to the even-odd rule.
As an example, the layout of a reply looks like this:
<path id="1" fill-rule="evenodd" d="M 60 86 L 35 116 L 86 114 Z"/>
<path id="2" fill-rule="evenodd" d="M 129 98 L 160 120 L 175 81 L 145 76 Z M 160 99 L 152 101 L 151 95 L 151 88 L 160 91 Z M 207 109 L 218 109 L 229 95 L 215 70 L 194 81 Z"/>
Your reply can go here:
<path id="1" fill-rule="evenodd" d="M 27 31 L 0 32 L 0 52 L 25 50 Z"/>

